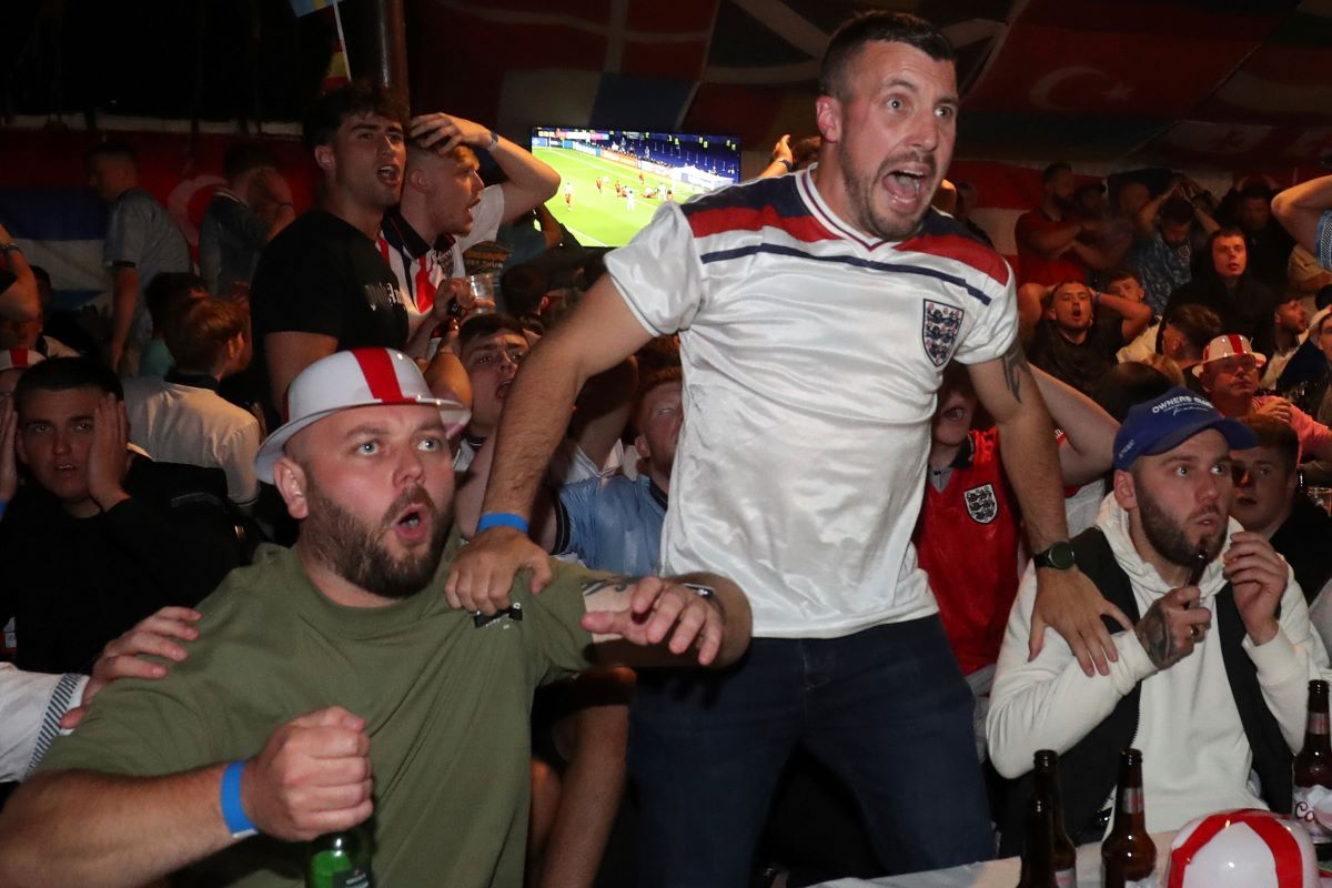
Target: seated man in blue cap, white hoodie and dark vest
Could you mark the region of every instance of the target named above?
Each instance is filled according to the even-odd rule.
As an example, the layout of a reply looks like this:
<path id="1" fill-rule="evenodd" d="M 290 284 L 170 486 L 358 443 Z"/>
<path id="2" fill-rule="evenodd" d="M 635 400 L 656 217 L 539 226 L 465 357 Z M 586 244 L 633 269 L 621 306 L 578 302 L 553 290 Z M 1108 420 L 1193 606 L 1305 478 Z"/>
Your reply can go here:
<path id="1" fill-rule="evenodd" d="M 1291 568 L 1227 517 L 1229 450 L 1252 442 L 1181 387 L 1128 413 L 1115 435 L 1114 493 L 1072 542 L 1083 571 L 1135 622 L 1114 636 L 1120 658 L 1108 676 L 1088 678 L 1058 634 L 1028 660 L 1030 571 L 1019 590 L 987 720 L 990 756 L 1003 776 L 1030 780 L 1032 754 L 1058 751 L 1075 841 L 1104 835 L 1128 746 L 1143 751 L 1150 831 L 1224 808 L 1289 811 L 1307 683 L 1324 678 L 1328 656 Z M 1002 815 L 1002 852 L 1020 841 L 1023 788 Z"/>

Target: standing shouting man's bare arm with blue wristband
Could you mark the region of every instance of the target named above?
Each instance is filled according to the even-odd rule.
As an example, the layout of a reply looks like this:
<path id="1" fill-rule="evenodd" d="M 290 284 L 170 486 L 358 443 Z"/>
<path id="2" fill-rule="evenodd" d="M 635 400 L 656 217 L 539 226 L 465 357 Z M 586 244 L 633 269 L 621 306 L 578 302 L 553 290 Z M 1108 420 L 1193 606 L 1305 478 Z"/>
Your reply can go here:
<path id="1" fill-rule="evenodd" d="M 546 463 L 569 425 L 583 383 L 642 347 L 651 334 L 603 276 L 579 301 L 573 316 L 527 354 L 505 402 L 496 441 L 496 462 L 482 515 L 509 513 L 529 518 Z M 492 527 L 476 535 L 449 570 L 445 594 L 456 607 L 488 614 L 507 607 L 513 576 L 533 571 L 531 588 L 550 582 L 546 554 L 514 527 Z"/>

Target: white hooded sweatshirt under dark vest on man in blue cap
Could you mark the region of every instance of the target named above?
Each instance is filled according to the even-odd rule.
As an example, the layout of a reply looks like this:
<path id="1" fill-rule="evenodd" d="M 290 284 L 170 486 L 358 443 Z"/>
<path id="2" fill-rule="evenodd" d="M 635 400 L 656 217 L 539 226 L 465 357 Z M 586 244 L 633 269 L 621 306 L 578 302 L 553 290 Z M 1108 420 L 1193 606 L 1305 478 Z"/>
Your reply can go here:
<path id="1" fill-rule="evenodd" d="M 1146 614 L 1172 586 L 1139 556 L 1128 535 L 1128 513 L 1114 494 L 1102 503 L 1096 526 L 1132 583 L 1139 612 Z M 1224 549 L 1240 530 L 1231 519 Z M 1120 631 L 1112 636 L 1119 660 L 1111 664 L 1110 675 L 1088 678 L 1054 630 L 1046 630 L 1040 655 L 1028 662 L 1036 596 L 1035 570 L 1028 568 L 1008 615 L 986 720 L 990 758 L 999 774 L 1016 777 L 1027 772 L 1036 750 L 1067 752 L 1142 682 L 1134 747 L 1143 752 L 1148 831 L 1177 829 L 1192 817 L 1225 808 L 1265 808 L 1251 785 L 1253 754 L 1231 695 L 1216 632 L 1216 594 L 1224 586 L 1217 558 L 1199 583 L 1199 604 L 1212 611 L 1212 628 L 1183 660 L 1158 671 L 1138 636 Z M 1299 751 L 1308 682 L 1329 676 L 1327 650 L 1309 623 L 1293 572 L 1281 596 L 1279 622 L 1280 630 L 1269 642 L 1259 647 L 1245 636 L 1243 648 L 1257 668 L 1263 699 L 1280 722 L 1285 742 Z"/>

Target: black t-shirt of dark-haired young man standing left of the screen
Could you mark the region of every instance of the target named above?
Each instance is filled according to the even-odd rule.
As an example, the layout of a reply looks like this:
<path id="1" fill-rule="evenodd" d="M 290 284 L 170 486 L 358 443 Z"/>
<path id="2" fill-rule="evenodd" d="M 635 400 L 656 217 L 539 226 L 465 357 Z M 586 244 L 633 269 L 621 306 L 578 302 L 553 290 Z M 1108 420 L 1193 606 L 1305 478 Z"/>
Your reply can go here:
<path id="1" fill-rule="evenodd" d="M 268 333 L 321 333 L 336 338 L 340 351 L 404 349 L 408 342 L 408 312 L 393 269 L 374 241 L 324 210 L 304 213 L 264 248 L 250 308 L 262 393 L 268 393 Z"/>

